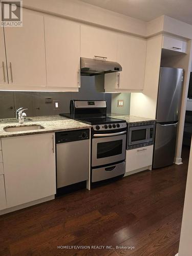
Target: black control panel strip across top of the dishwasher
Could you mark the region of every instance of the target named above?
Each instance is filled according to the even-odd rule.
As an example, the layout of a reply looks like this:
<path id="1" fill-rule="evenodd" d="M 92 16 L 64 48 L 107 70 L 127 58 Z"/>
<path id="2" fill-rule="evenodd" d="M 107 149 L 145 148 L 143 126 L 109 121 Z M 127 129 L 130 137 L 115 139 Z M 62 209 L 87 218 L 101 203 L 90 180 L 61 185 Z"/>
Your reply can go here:
<path id="1" fill-rule="evenodd" d="M 88 140 L 89 138 L 90 138 L 89 129 L 55 133 L 56 144 L 77 141 L 77 140 Z"/>

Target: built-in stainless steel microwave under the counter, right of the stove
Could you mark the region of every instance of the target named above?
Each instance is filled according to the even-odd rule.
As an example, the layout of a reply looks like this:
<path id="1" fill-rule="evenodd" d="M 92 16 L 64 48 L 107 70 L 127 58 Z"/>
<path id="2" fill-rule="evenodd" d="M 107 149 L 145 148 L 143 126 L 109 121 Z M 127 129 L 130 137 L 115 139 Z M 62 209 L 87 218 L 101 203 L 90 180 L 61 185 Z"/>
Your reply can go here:
<path id="1" fill-rule="evenodd" d="M 155 121 L 130 123 L 127 133 L 127 150 L 154 143 Z"/>

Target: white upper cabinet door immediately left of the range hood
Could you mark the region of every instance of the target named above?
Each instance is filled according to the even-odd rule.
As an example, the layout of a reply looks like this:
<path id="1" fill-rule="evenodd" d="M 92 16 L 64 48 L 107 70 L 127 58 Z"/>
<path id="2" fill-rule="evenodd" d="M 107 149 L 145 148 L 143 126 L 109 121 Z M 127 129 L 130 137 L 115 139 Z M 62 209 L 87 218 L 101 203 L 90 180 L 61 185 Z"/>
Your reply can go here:
<path id="1" fill-rule="evenodd" d="M 48 87 L 79 87 L 80 25 L 45 16 Z"/>

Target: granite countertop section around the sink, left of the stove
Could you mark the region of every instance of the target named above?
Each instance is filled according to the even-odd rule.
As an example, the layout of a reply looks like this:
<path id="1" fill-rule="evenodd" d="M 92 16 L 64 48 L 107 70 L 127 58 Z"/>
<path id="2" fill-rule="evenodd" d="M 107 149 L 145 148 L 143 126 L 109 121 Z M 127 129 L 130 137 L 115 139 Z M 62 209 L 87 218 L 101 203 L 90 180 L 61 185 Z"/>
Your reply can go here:
<path id="1" fill-rule="evenodd" d="M 51 133 L 59 131 L 69 131 L 69 130 L 79 130 L 79 129 L 89 129 L 92 127 L 87 123 L 82 123 L 69 119 L 66 117 L 56 116 L 37 116 L 37 117 L 28 117 L 32 120 L 25 121 L 23 124 L 18 124 L 18 122 L 11 122 L 10 119 L 0 119 L 0 138 L 3 137 L 12 137 L 28 134 L 40 134 L 40 133 Z M 5 120 L 3 123 L 1 120 Z M 6 122 L 7 121 L 7 122 Z M 13 126 L 29 126 L 29 125 L 41 125 L 45 129 L 41 130 L 31 130 L 31 131 L 19 131 L 19 132 L 5 132 L 5 127 Z"/>

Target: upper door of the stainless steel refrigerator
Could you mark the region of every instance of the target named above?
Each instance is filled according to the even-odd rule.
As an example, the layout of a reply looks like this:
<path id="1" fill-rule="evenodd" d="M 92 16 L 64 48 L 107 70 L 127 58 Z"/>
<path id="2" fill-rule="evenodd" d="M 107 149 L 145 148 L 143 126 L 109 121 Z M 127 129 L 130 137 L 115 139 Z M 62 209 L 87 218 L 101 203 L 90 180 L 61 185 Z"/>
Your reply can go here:
<path id="1" fill-rule="evenodd" d="M 183 69 L 161 68 L 157 102 L 157 122 L 178 120 L 181 105 Z"/>

